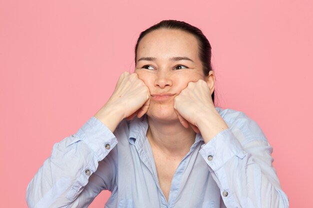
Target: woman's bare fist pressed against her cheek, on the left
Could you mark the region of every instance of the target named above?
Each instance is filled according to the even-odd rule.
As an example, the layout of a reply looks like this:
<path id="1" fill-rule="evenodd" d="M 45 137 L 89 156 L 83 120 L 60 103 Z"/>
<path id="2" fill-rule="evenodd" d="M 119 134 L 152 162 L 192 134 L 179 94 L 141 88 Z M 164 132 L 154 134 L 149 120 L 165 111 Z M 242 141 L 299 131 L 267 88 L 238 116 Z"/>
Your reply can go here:
<path id="1" fill-rule="evenodd" d="M 114 92 L 94 117 L 104 123 L 112 132 L 118 123 L 137 115 L 142 117 L 150 102 L 148 87 L 138 79 L 136 73 L 124 72 L 120 75 Z"/>

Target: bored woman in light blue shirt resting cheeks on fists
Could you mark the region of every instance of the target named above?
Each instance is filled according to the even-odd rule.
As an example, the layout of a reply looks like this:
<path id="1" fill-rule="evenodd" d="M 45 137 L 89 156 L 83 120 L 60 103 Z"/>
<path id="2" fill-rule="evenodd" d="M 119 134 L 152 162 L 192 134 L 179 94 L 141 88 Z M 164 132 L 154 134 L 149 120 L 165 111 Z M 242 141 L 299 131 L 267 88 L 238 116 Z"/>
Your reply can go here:
<path id="1" fill-rule="evenodd" d="M 33 208 L 286 208 L 271 147 L 243 113 L 214 107 L 211 47 L 185 22 L 143 31 L 135 71 L 53 147 L 27 188 Z M 113 133 L 112 133 L 113 132 Z"/>

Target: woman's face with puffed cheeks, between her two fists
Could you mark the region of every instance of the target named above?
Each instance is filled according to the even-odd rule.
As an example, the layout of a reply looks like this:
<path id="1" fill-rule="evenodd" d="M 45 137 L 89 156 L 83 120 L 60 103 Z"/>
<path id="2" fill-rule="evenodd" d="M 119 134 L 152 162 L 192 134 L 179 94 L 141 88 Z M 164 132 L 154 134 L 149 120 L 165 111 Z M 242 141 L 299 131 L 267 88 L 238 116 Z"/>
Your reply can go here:
<path id="1" fill-rule="evenodd" d="M 176 29 L 157 29 L 140 40 L 135 73 L 150 90 L 146 114 L 159 121 L 176 121 L 174 97 L 189 82 L 206 80 L 196 38 Z"/>

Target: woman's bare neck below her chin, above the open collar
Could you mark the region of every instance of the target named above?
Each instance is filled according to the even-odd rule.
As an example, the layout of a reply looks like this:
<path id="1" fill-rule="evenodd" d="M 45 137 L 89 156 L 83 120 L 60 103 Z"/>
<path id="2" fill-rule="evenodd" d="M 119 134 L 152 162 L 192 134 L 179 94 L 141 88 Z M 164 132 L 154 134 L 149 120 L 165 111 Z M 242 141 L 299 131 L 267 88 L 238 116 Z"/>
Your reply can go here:
<path id="1" fill-rule="evenodd" d="M 160 122 L 148 117 L 148 124 L 146 136 L 152 149 L 157 148 L 172 156 L 184 156 L 194 143 L 194 131 L 190 127 L 184 128 L 178 120 Z"/>

